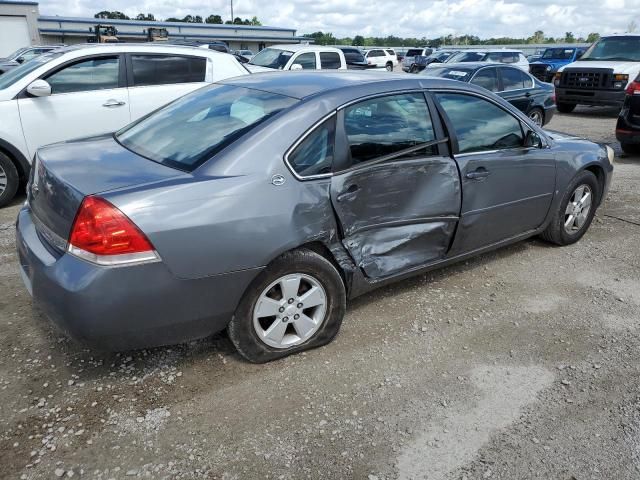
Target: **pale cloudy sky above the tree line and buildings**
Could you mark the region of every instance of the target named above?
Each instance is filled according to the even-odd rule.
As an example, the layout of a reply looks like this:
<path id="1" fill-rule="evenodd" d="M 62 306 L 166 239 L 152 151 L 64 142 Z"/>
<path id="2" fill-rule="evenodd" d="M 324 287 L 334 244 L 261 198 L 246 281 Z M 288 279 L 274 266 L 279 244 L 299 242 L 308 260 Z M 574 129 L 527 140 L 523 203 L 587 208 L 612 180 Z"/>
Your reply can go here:
<path id="1" fill-rule="evenodd" d="M 41 0 L 42 15 L 93 16 L 119 10 L 156 18 L 230 17 L 229 0 Z M 576 37 L 589 32 L 627 30 L 640 25 L 640 0 L 234 0 L 234 16 L 257 16 L 263 25 L 296 28 L 299 34 L 318 30 L 338 37 L 354 35 L 435 38 L 472 34 L 481 38 L 528 37 L 535 30 L 548 36 Z M 640 30 L 640 28 L 639 28 Z"/>

